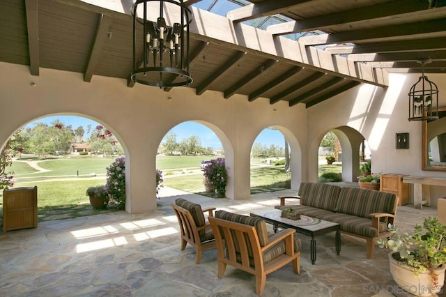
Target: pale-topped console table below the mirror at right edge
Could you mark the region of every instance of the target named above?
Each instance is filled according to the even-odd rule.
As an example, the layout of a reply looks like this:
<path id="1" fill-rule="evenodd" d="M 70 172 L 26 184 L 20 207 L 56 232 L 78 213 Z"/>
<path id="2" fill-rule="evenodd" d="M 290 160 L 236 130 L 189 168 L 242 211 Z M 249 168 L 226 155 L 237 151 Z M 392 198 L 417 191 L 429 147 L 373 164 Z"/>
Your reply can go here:
<path id="1" fill-rule="evenodd" d="M 429 176 L 403 176 L 403 183 L 413 183 L 413 207 L 423 208 L 423 204 L 431 204 L 431 190 L 429 185 L 443 185 L 446 187 L 446 178 Z"/>

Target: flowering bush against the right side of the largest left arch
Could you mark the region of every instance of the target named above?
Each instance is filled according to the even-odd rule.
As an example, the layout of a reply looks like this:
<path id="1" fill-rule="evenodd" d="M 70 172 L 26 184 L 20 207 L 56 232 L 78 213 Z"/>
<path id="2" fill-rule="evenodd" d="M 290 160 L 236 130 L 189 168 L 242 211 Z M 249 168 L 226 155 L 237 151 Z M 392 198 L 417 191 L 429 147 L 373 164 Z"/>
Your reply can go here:
<path id="1" fill-rule="evenodd" d="M 116 158 L 107 167 L 107 193 L 116 202 L 116 208 L 125 209 L 125 158 Z"/>

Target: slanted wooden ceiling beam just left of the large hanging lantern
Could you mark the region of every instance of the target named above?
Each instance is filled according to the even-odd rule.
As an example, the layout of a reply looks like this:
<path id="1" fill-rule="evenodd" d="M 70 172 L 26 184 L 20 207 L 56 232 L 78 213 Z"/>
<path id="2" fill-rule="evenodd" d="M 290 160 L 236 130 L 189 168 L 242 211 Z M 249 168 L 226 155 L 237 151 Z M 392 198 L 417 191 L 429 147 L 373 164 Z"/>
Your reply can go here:
<path id="1" fill-rule="evenodd" d="M 110 24 L 112 24 L 112 17 L 107 15 L 99 16 L 95 39 L 93 40 L 93 45 L 91 46 L 90 59 L 86 64 L 84 71 L 84 82 L 91 82 L 91 77 L 93 76 L 100 59 L 100 52 L 102 51 L 102 47 L 104 46 L 105 40 L 108 36 L 107 33 L 109 31 Z"/>

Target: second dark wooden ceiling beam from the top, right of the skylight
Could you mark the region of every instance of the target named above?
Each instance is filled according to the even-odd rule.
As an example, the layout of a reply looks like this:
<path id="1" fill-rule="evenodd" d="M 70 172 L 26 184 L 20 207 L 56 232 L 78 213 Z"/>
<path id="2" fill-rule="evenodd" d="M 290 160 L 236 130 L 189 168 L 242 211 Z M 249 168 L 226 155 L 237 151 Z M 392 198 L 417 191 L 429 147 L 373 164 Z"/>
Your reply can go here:
<path id="1" fill-rule="evenodd" d="M 340 13 L 330 13 L 312 17 L 307 20 L 298 20 L 282 24 L 273 24 L 266 28 L 272 35 L 285 35 L 306 31 L 323 30 L 330 26 L 345 24 L 352 27 L 355 23 L 378 22 L 384 17 L 402 17 L 408 13 L 420 13 L 421 10 L 428 10 L 426 3 L 419 0 L 392 1 L 379 3 L 372 6 L 364 6 Z"/>

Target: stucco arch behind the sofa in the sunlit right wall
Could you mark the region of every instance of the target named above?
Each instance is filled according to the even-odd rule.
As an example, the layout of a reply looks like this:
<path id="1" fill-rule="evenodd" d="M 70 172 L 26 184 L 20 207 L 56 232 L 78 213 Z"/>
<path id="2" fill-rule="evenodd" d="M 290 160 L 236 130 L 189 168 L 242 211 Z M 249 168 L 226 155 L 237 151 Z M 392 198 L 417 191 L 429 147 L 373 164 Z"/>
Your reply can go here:
<path id="1" fill-rule="evenodd" d="M 318 148 L 321 144 L 322 138 L 327 132 L 332 131 L 334 135 L 337 136 L 339 142 L 341 144 L 342 149 L 342 181 L 356 181 L 356 176 L 359 175 L 359 163 L 360 163 L 360 144 L 364 140 L 364 136 L 354 128 L 348 127 L 346 125 L 339 126 L 335 128 L 331 128 L 328 130 L 323 130 L 314 137 L 313 141 L 310 144 L 309 153 L 317 160 Z M 318 166 L 315 165 L 309 166 Z M 316 173 L 316 176 L 310 176 L 312 181 L 317 181 L 318 170 L 313 171 Z"/>

